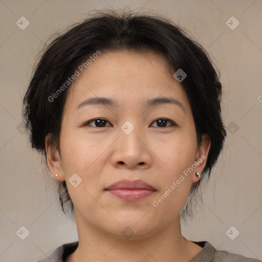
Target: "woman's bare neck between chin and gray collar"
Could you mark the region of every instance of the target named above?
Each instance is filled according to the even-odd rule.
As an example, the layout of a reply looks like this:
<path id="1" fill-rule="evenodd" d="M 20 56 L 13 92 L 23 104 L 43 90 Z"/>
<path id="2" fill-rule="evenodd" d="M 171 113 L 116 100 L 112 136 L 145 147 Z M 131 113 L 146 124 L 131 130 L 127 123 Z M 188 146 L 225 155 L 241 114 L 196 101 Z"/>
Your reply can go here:
<path id="1" fill-rule="evenodd" d="M 202 248 L 181 234 L 180 218 L 147 237 L 112 236 L 81 221 L 76 213 L 79 245 L 66 262 L 189 262 Z"/>

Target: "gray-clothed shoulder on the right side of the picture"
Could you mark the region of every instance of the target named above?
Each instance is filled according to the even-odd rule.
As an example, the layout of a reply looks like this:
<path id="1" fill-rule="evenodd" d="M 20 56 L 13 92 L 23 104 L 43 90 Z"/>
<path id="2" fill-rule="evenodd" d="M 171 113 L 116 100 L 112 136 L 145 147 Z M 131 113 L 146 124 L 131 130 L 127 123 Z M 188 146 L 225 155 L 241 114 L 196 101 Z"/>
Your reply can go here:
<path id="1" fill-rule="evenodd" d="M 249 258 L 226 250 L 217 250 L 209 242 L 194 242 L 203 249 L 190 262 L 261 262 L 256 258 Z"/>

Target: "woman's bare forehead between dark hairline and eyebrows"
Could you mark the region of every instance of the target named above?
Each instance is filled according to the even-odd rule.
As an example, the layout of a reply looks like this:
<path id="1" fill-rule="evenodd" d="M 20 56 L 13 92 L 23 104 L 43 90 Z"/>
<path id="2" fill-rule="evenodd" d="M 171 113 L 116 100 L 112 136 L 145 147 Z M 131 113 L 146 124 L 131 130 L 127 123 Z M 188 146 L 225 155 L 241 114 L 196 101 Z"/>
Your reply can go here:
<path id="1" fill-rule="evenodd" d="M 120 104 L 143 103 L 161 95 L 188 104 L 182 85 L 156 52 L 101 52 L 74 80 L 66 104 L 77 106 L 89 97 L 111 97 Z"/>

